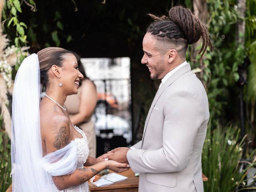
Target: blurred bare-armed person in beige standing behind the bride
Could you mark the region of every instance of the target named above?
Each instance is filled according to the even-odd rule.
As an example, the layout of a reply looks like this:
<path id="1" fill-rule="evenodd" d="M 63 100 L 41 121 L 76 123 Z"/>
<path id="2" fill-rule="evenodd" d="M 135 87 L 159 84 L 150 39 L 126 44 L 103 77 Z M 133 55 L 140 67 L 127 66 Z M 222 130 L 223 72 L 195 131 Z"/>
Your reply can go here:
<path id="1" fill-rule="evenodd" d="M 78 126 L 86 134 L 89 147 L 89 156 L 96 157 L 96 134 L 94 122 L 91 117 L 97 104 L 97 91 L 95 84 L 86 76 L 80 56 L 76 56 L 78 70 L 84 78 L 79 82 L 78 94 L 67 96 L 65 105 L 68 108 L 71 122 Z"/>

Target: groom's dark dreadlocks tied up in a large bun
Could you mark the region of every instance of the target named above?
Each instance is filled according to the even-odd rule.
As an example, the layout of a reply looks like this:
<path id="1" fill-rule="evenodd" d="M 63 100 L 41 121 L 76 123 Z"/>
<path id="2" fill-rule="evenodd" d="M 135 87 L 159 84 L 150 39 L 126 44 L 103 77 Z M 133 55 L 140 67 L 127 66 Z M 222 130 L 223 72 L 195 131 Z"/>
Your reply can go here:
<path id="1" fill-rule="evenodd" d="M 202 64 L 202 58 L 207 46 L 210 46 L 211 51 L 213 50 L 206 26 L 192 14 L 191 10 L 176 6 L 170 9 L 169 17 L 149 15 L 155 21 L 148 26 L 147 32 L 156 36 L 159 42 L 174 44 L 176 47 L 179 46 L 180 49 L 177 51 L 180 52 L 181 56 L 186 56 L 188 44 L 196 43 L 201 36 L 203 44 L 199 51 L 199 54 L 202 52 L 200 64 Z"/>

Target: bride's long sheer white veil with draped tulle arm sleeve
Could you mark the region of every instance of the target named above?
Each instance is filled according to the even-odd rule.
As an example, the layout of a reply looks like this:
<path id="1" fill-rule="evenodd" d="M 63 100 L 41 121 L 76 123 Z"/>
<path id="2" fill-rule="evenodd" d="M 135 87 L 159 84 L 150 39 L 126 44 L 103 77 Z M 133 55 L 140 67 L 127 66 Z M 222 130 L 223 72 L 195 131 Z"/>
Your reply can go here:
<path id="1" fill-rule="evenodd" d="M 52 177 L 76 169 L 75 142 L 42 156 L 40 134 L 40 67 L 37 54 L 24 59 L 16 74 L 12 98 L 12 191 L 52 192 Z"/>

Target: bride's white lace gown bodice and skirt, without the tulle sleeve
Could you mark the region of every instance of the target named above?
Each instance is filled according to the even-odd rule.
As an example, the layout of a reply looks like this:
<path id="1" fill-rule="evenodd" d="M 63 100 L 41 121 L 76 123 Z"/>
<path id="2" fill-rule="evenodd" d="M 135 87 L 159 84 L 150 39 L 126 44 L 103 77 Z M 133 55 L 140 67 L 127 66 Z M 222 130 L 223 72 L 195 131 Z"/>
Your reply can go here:
<path id="1" fill-rule="evenodd" d="M 74 126 L 74 127 L 83 136 L 82 138 L 75 138 L 74 140 L 76 142 L 76 148 L 77 148 L 77 154 L 78 154 L 76 168 L 80 169 L 80 168 L 84 168 L 84 163 L 86 162 L 89 155 L 89 148 L 88 148 L 87 138 L 84 132 L 80 130 L 77 126 Z M 54 185 L 53 182 L 52 184 Z M 88 182 L 85 182 L 81 185 L 68 188 L 63 191 L 59 191 L 54 185 L 54 192 L 89 192 L 89 186 L 88 186 Z"/>

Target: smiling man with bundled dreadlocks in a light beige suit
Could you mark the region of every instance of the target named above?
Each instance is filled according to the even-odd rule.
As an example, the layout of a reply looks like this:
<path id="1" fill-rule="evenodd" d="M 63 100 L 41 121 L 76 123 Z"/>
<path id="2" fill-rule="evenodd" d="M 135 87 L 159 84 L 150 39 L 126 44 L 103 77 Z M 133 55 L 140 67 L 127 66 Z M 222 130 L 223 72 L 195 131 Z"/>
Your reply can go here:
<path id="1" fill-rule="evenodd" d="M 150 78 L 162 82 L 142 140 L 130 149 L 112 150 L 108 158 L 128 162 L 133 172 L 140 173 L 140 192 L 203 192 L 201 152 L 209 120 L 208 99 L 186 62 L 186 50 L 201 36 L 203 53 L 212 45 L 204 25 L 186 8 L 170 9 L 169 18 L 152 17 L 156 21 L 144 36 L 141 62 Z"/>

